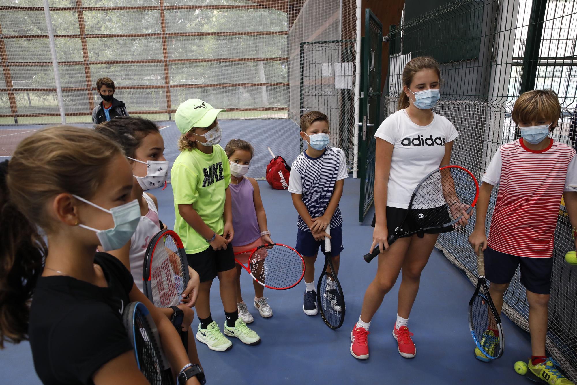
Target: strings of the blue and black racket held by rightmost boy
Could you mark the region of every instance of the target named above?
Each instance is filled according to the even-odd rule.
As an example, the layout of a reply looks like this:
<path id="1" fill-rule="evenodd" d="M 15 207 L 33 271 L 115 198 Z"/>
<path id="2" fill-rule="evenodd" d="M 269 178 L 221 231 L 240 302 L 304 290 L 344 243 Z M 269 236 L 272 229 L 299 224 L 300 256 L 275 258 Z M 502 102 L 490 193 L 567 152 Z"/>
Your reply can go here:
<path id="1" fill-rule="evenodd" d="M 502 349 L 499 327 L 489 302 L 485 297 L 477 295 L 469 311 L 471 333 L 477 346 L 485 356 L 489 358 L 499 357 Z"/>

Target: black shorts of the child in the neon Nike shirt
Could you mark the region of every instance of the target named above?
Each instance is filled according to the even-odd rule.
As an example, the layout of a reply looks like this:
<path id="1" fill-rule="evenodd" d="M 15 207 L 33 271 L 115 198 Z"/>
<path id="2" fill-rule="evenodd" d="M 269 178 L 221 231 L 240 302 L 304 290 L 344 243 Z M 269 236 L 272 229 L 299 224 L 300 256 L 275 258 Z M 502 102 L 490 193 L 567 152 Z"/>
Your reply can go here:
<path id="1" fill-rule="evenodd" d="M 228 245 L 226 250 L 215 250 L 212 246 L 200 253 L 186 254 L 188 265 L 200 276 L 200 282 L 215 279 L 216 273 L 234 269 L 233 245 Z"/>

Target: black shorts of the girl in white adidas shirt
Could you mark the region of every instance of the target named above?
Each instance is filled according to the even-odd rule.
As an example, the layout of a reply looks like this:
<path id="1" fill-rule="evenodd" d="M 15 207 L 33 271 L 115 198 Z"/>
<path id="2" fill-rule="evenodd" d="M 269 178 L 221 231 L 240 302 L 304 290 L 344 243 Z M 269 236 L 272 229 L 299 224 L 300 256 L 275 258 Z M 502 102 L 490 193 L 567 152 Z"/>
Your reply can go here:
<path id="1" fill-rule="evenodd" d="M 408 209 L 400 209 L 397 207 L 387 206 L 387 231 L 389 233 L 389 236 L 394 234 L 399 228 L 399 226 L 403 224 L 403 220 L 407 215 L 407 210 Z M 449 212 L 447 211 L 447 206 L 445 205 L 432 209 L 411 209 L 411 210 L 413 210 L 413 213 L 411 213 L 410 216 L 407 216 L 407 221 L 403 225 L 404 227 L 402 229 L 403 232 L 415 231 L 423 227 L 432 227 L 443 223 L 449 223 L 449 221 L 451 220 L 451 217 L 449 217 Z M 422 221 L 419 223 L 415 222 L 415 220 L 413 220 L 413 216 L 415 217 L 422 216 Z M 435 223 L 429 223 L 427 221 L 429 217 L 436 218 Z M 443 219 L 443 221 L 439 221 L 439 219 Z M 372 227 L 374 227 L 375 220 L 376 216 L 373 217 Z M 423 238 L 423 234 L 441 234 L 441 232 L 450 232 L 450 231 L 453 231 L 452 226 L 419 231 L 417 235 L 419 236 L 419 238 Z M 404 238 L 407 236 L 411 235 L 404 235 L 401 236 L 400 238 Z"/>

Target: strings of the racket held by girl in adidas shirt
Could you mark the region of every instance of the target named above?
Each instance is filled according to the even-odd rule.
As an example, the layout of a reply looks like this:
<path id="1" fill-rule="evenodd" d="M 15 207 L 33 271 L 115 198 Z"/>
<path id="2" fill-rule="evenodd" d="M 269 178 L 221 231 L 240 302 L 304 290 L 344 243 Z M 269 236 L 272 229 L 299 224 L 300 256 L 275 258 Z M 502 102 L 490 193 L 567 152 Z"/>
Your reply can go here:
<path id="1" fill-rule="evenodd" d="M 475 179 L 464 169 L 448 167 L 431 174 L 415 191 L 411 219 L 421 228 L 443 227 L 463 214 L 477 197 Z"/>

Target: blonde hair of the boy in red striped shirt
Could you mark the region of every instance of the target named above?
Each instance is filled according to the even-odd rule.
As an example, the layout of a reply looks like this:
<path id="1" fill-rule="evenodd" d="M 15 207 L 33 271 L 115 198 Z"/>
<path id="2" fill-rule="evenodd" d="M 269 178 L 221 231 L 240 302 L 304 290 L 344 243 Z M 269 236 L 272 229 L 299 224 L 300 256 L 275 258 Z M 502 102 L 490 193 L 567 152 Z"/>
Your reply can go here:
<path id="1" fill-rule="evenodd" d="M 561 105 L 555 91 L 551 89 L 523 92 L 515 102 L 511 119 L 515 124 L 546 120 L 557 126 L 561 117 Z"/>

